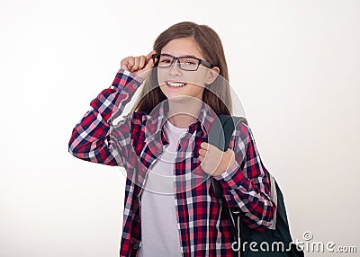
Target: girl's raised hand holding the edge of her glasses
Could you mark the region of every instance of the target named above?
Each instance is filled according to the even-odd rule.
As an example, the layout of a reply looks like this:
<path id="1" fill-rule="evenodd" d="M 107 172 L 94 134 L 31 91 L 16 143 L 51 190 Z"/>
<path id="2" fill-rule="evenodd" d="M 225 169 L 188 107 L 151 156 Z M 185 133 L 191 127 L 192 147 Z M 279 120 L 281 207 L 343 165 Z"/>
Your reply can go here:
<path id="1" fill-rule="evenodd" d="M 145 78 L 148 75 L 148 71 L 154 66 L 151 56 L 155 53 L 156 51 L 152 50 L 147 56 L 123 58 L 121 60 L 121 68 Z"/>

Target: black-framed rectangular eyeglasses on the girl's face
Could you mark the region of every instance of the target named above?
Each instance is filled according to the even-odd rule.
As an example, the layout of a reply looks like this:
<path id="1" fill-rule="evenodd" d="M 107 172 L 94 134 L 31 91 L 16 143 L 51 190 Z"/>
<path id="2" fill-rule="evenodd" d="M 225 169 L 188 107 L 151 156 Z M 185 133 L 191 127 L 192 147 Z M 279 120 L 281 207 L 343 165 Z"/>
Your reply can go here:
<path id="1" fill-rule="evenodd" d="M 202 60 L 200 58 L 194 57 L 179 57 L 175 58 L 173 56 L 167 54 L 154 54 L 151 56 L 154 61 L 155 66 L 166 68 L 170 67 L 174 64 L 175 60 L 177 60 L 178 66 L 183 70 L 188 71 L 196 71 L 199 66 L 202 64 L 207 67 L 213 67 L 210 62 Z M 157 59 L 157 61 L 156 61 Z"/>

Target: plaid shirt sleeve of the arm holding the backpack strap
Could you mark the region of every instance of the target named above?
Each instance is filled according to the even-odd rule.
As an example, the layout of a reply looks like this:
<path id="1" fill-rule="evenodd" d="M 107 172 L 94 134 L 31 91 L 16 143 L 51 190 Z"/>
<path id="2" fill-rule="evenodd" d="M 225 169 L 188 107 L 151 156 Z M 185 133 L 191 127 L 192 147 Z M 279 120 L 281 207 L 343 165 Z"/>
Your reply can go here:
<path id="1" fill-rule="evenodd" d="M 276 206 L 270 197 L 269 174 L 247 125 L 238 123 L 229 147 L 235 152 L 236 162 L 214 178 L 223 188 L 228 207 L 239 208 L 247 226 L 264 230 L 272 225 Z"/>

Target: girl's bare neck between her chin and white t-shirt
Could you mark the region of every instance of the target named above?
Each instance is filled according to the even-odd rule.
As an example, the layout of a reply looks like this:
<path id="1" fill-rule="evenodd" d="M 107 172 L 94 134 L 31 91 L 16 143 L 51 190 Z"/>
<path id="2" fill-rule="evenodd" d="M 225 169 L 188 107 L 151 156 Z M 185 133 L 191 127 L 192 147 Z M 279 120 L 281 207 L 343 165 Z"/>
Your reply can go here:
<path id="1" fill-rule="evenodd" d="M 195 100 L 168 100 L 167 119 L 177 128 L 188 128 L 196 118 L 202 108 L 202 101 Z"/>

